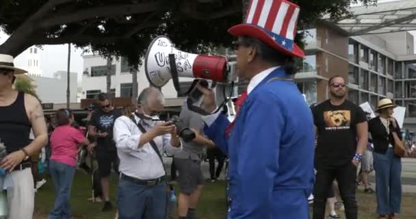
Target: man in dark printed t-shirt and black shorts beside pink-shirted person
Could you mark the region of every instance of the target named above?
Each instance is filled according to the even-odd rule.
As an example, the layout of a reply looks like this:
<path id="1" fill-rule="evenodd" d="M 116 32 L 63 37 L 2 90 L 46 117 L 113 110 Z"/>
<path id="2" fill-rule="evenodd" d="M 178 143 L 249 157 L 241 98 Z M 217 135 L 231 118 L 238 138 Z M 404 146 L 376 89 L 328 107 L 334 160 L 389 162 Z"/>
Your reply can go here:
<path id="1" fill-rule="evenodd" d="M 88 133 L 96 137 L 96 160 L 99 164 L 99 175 L 101 177 L 101 188 L 103 190 L 103 211 L 112 209 L 109 202 L 109 175 L 113 165 L 114 171 L 118 172 L 118 157 L 116 143 L 113 140 L 113 126 L 116 118 L 121 116 L 120 110 L 114 109 L 109 102 L 107 94 L 98 96 L 97 105 L 99 109 L 92 113 Z"/>

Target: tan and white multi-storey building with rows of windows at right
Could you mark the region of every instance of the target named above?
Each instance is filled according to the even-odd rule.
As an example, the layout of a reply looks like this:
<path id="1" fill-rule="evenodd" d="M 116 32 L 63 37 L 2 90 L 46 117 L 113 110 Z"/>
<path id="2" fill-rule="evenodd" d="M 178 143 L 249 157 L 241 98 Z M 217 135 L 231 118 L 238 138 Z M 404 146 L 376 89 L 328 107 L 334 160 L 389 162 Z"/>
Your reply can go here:
<path id="1" fill-rule="evenodd" d="M 309 104 L 328 99 L 328 79 L 342 76 L 348 99 L 369 102 L 375 110 L 380 99 L 394 99 L 406 107 L 404 128 L 416 131 L 416 55 L 413 35 L 406 31 L 348 37 L 334 27 L 307 29 L 306 57 L 297 79 Z"/>

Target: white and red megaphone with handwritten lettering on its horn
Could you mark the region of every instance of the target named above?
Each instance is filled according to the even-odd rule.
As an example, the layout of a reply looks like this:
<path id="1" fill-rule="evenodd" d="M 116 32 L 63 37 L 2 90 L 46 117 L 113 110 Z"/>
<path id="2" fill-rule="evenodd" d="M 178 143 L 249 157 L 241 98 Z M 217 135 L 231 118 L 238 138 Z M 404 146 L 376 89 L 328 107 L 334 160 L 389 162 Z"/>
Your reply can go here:
<path id="1" fill-rule="evenodd" d="M 170 57 L 174 57 L 174 62 L 170 62 Z M 144 69 L 149 83 L 156 87 L 163 87 L 173 79 L 177 88 L 178 85 L 175 84 L 177 77 L 193 77 L 217 82 L 233 81 L 226 57 L 180 51 L 166 36 L 159 36 L 151 42 L 144 59 Z M 177 91 L 179 92 L 178 88 Z"/>

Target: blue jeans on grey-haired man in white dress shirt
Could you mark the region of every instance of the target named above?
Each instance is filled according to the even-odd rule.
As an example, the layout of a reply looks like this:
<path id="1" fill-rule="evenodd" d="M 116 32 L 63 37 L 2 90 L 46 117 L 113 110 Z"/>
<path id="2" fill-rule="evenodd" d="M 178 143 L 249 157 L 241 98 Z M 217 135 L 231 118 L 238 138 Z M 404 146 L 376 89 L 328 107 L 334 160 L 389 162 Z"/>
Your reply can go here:
<path id="1" fill-rule="evenodd" d="M 166 182 L 145 186 L 120 179 L 118 181 L 119 219 L 165 219 Z"/>

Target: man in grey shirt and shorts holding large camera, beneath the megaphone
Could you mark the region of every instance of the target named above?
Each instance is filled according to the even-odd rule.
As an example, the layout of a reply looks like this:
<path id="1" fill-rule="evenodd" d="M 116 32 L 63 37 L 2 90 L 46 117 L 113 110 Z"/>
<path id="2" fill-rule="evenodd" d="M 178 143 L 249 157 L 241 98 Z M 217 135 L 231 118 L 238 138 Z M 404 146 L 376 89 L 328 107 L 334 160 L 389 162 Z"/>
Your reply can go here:
<path id="1" fill-rule="evenodd" d="M 182 129 L 189 127 L 196 133 L 196 138 L 183 144 L 183 151 L 174 155 L 174 164 L 179 171 L 179 219 L 196 218 L 195 209 L 198 199 L 203 190 L 203 172 L 200 169 L 201 157 L 204 146 L 215 146 L 211 140 L 200 133 L 203 131 L 204 121 L 200 114 L 192 112 L 183 105 L 179 119 L 182 122 Z"/>

